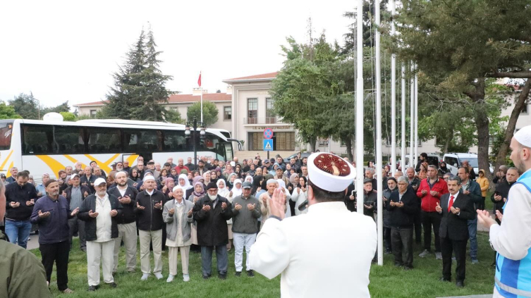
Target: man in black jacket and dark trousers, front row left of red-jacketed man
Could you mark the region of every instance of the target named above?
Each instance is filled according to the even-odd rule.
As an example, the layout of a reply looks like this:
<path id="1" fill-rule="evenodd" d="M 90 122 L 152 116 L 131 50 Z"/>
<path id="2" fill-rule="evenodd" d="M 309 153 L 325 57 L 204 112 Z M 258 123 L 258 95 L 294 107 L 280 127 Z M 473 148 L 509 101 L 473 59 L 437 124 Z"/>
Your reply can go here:
<path id="1" fill-rule="evenodd" d="M 413 268 L 413 216 L 417 211 L 417 194 L 405 177 L 398 177 L 398 192 L 391 192 L 389 204 L 389 225 L 391 225 L 391 247 L 395 256 L 395 266 Z M 405 261 L 402 261 L 402 250 Z"/>

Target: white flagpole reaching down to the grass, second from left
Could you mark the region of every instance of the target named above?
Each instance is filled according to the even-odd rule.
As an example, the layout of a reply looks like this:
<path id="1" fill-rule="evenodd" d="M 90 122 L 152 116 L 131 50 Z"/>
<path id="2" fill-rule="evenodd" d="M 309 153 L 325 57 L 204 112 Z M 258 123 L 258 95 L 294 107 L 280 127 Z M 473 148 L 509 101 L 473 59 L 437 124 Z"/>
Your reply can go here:
<path id="1" fill-rule="evenodd" d="M 384 265 L 384 199 L 382 190 L 382 61 L 380 61 L 380 1 L 374 0 L 374 21 L 376 23 L 376 38 L 374 40 L 376 56 L 376 163 L 377 163 L 377 231 L 378 231 L 378 265 Z"/>

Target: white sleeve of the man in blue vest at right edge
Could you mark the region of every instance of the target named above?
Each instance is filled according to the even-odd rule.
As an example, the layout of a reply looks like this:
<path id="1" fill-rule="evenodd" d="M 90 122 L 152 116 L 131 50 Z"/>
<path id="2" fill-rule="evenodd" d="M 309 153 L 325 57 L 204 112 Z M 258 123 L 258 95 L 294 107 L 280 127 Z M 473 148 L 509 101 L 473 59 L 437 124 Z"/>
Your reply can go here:
<path id="1" fill-rule="evenodd" d="M 521 260 L 531 247 L 531 192 L 517 184 L 511 187 L 508 197 L 501 225 L 490 228 L 490 242 L 502 256 Z"/>

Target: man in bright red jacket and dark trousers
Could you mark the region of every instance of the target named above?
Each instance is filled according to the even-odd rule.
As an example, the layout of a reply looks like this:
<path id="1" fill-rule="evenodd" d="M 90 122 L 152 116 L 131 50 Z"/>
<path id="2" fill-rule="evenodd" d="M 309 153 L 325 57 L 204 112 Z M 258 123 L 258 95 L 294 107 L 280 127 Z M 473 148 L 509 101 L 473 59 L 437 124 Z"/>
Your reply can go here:
<path id="1" fill-rule="evenodd" d="M 443 194 L 448 192 L 448 187 L 443 179 L 437 176 L 437 167 L 428 166 L 428 178 L 420 182 L 417 190 L 417 197 L 422 200 L 420 203 L 422 227 L 424 227 L 424 252 L 419 256 L 424 258 L 432 251 L 432 225 L 435 234 L 435 257 L 442 259 L 441 242 L 439 239 L 439 225 L 441 215 L 435 210 Z"/>

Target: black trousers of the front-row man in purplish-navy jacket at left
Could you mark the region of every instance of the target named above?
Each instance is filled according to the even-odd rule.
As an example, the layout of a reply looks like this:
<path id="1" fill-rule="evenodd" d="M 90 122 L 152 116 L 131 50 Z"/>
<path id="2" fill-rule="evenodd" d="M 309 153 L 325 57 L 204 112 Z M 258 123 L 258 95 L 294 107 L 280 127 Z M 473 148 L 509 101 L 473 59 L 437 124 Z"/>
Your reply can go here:
<path id="1" fill-rule="evenodd" d="M 57 287 L 59 291 L 68 288 L 68 254 L 70 254 L 70 243 L 67 241 L 53 244 L 39 244 L 42 256 L 42 266 L 46 271 L 46 280 L 51 279 L 51 271 L 54 263 L 57 271 Z"/>

